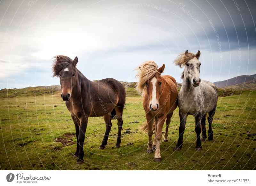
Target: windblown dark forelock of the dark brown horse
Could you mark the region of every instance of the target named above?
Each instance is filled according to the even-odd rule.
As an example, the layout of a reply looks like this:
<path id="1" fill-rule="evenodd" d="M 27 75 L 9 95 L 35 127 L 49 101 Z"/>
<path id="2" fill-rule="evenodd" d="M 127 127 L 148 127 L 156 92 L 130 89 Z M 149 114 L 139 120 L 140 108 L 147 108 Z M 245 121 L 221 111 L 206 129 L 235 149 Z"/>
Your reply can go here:
<path id="1" fill-rule="evenodd" d="M 68 66 L 70 63 L 72 63 L 72 59 L 68 56 L 54 56 L 52 58 L 52 77 L 59 77 L 60 71 Z"/>

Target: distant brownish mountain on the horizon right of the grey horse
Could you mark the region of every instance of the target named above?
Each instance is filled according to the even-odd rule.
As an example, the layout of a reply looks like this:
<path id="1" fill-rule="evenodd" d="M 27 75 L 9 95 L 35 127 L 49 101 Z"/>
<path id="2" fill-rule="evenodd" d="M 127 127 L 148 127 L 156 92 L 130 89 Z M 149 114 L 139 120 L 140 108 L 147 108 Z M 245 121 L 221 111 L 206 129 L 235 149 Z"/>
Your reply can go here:
<path id="1" fill-rule="evenodd" d="M 230 88 L 230 89 L 242 89 L 243 85 L 246 85 L 246 89 L 250 89 L 250 85 L 252 85 L 253 78 L 256 76 L 256 74 L 253 75 L 240 75 L 234 78 L 230 78 L 228 80 L 224 81 L 217 81 L 214 82 L 214 84 L 218 88 Z M 249 86 L 249 87 L 248 87 Z M 243 88 L 245 89 L 245 87 Z"/>

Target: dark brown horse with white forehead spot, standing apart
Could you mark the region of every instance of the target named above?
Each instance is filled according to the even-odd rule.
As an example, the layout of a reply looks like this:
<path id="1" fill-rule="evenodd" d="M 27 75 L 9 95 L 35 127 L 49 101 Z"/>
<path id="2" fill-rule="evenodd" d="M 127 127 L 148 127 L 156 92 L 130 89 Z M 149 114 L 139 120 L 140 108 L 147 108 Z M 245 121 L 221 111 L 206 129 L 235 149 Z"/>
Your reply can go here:
<path id="1" fill-rule="evenodd" d="M 88 117 L 103 116 L 106 132 L 99 149 L 107 145 L 108 135 L 112 126 L 111 119 L 117 118 L 118 136 L 116 148 L 120 147 L 123 126 L 123 110 L 125 104 L 124 86 L 112 78 L 100 81 L 88 80 L 77 68 L 78 58 L 73 61 L 67 56 L 54 58 L 53 77 L 60 77 L 61 98 L 66 101 L 68 111 L 76 127 L 77 164 L 83 163 L 84 136 Z"/>

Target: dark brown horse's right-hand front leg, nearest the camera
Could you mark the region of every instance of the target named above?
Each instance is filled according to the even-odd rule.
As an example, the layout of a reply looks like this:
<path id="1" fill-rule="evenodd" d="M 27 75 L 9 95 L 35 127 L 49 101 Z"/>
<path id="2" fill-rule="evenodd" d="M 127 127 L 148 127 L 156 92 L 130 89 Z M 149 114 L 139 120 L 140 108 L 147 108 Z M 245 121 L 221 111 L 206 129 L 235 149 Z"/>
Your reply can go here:
<path id="1" fill-rule="evenodd" d="M 84 161 L 84 138 L 85 138 L 85 132 L 87 128 L 88 123 L 88 116 L 82 115 L 80 117 L 80 125 L 79 125 L 79 135 L 78 135 L 78 141 L 79 141 L 79 152 L 78 152 L 78 158 L 76 160 L 76 164 L 82 164 Z"/>

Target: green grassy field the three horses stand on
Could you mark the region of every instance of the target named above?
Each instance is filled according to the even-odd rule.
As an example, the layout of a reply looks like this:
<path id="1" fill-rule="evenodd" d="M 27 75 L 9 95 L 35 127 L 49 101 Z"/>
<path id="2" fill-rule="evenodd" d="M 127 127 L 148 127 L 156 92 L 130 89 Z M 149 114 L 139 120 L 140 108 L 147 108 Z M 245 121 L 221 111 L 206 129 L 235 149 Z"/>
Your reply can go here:
<path id="1" fill-rule="evenodd" d="M 36 91 L 35 91 L 36 90 Z M 105 150 L 98 147 L 105 133 L 101 117 L 89 118 L 84 161 L 76 165 L 75 126 L 60 92 L 27 88 L 0 91 L 1 170 L 253 170 L 256 169 L 256 92 L 220 90 L 213 120 L 214 140 L 195 151 L 196 133 L 188 117 L 182 150 L 173 149 L 179 136 L 179 114 L 175 110 L 169 127 L 169 142 L 161 144 L 162 161 L 147 154 L 148 135 L 140 132 L 145 112 L 142 98 L 127 89 L 122 143 L 114 148 L 116 120 Z M 208 130 L 208 125 L 206 125 Z"/>

